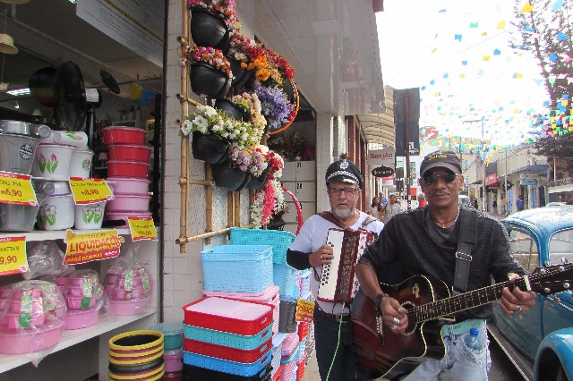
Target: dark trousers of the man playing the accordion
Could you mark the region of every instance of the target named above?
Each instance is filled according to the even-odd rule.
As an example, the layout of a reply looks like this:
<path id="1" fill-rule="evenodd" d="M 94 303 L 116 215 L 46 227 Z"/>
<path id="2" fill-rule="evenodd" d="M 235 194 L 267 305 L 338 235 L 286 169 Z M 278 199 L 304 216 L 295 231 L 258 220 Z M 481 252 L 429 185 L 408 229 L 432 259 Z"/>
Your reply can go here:
<path id="1" fill-rule="evenodd" d="M 350 321 L 340 323 L 331 317 L 332 315 L 321 311 L 317 305 L 314 306 L 314 353 L 316 353 L 321 380 L 327 380 L 329 370 L 328 381 L 365 380 L 362 374 L 357 374 L 355 366 L 355 356 L 352 351 L 352 323 Z M 339 344 L 338 330 L 340 330 Z"/>

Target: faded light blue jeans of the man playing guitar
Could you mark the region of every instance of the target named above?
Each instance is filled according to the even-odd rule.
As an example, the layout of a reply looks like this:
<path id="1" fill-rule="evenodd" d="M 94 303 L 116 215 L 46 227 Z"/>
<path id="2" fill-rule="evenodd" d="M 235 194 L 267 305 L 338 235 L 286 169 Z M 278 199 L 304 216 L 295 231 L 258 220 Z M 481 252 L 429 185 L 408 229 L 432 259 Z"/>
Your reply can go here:
<path id="1" fill-rule="evenodd" d="M 492 366 L 489 340 L 485 325 L 480 327 L 479 330 L 480 334 L 478 337 L 480 343 L 482 343 L 480 351 L 467 348 L 463 340 L 464 334 L 444 335 L 446 356 L 441 360 L 428 359 L 423 361 L 403 380 L 487 380 L 487 372 Z"/>

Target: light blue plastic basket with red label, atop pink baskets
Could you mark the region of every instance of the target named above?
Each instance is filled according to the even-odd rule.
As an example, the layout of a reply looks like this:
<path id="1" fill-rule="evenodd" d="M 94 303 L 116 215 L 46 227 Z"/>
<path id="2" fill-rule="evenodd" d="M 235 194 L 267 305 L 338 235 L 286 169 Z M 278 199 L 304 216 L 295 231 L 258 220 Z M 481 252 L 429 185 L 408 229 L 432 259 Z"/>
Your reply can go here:
<path id="1" fill-rule="evenodd" d="M 262 292 L 273 283 L 272 247 L 221 245 L 201 251 L 205 291 Z"/>

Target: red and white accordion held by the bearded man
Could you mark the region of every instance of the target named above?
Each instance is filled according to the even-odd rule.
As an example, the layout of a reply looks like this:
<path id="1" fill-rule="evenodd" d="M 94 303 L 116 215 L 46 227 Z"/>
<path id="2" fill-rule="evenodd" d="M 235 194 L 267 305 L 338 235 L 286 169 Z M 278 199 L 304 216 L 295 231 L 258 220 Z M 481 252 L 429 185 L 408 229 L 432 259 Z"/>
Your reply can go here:
<path id="1" fill-rule="evenodd" d="M 358 292 L 355 275 L 356 262 L 362 257 L 374 234 L 365 230 L 329 229 L 327 244 L 332 247 L 331 263 L 322 267 L 317 299 L 320 301 L 350 302 Z"/>

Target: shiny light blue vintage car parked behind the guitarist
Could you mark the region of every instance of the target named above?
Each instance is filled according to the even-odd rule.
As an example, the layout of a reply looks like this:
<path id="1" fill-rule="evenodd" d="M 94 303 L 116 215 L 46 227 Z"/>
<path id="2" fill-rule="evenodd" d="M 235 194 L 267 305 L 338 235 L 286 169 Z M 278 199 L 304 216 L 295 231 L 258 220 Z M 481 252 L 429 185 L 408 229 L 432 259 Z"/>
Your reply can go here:
<path id="1" fill-rule="evenodd" d="M 573 262 L 573 206 L 537 207 L 502 223 L 511 250 L 526 271 Z M 573 282 L 572 282 L 573 284 Z M 570 292 L 537 294 L 535 308 L 508 316 L 493 305 L 490 334 L 523 377 L 573 380 L 573 300 Z"/>

